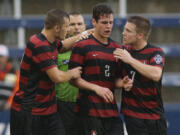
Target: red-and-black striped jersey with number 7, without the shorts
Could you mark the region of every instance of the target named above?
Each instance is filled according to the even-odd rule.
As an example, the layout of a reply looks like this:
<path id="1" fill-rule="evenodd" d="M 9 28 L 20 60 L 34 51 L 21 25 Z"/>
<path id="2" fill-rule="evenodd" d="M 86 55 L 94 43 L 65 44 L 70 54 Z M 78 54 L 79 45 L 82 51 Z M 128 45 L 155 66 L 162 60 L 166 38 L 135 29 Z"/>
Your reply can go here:
<path id="1" fill-rule="evenodd" d="M 132 57 L 142 63 L 163 69 L 165 58 L 161 48 L 148 44 L 138 51 L 133 51 L 130 48 L 128 50 Z M 134 80 L 134 83 L 131 91 L 123 90 L 122 92 L 121 112 L 139 119 L 160 119 L 164 114 L 161 97 L 162 78 L 155 82 L 142 76 L 130 65 L 122 64 L 122 67 L 122 75 L 128 75 Z"/>

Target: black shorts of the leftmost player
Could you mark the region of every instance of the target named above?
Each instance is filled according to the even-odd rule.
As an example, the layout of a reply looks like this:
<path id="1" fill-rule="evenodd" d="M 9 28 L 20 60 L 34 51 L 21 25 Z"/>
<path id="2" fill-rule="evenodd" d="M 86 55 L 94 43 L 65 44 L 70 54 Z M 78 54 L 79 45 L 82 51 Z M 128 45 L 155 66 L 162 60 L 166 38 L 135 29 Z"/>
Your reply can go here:
<path id="1" fill-rule="evenodd" d="M 58 113 L 51 115 L 31 115 L 11 109 L 11 135 L 65 135 Z"/>

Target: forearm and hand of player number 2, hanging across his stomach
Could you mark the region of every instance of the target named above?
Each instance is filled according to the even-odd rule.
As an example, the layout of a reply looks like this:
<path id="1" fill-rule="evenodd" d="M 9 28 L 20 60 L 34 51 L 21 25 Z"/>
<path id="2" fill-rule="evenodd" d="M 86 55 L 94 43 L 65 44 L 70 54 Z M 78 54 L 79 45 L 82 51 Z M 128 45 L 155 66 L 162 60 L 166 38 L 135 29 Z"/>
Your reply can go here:
<path id="1" fill-rule="evenodd" d="M 102 97 L 106 102 L 112 102 L 114 99 L 113 93 L 108 88 L 90 83 L 82 78 L 73 79 L 70 81 L 70 83 L 80 89 L 94 91 L 97 95 Z"/>

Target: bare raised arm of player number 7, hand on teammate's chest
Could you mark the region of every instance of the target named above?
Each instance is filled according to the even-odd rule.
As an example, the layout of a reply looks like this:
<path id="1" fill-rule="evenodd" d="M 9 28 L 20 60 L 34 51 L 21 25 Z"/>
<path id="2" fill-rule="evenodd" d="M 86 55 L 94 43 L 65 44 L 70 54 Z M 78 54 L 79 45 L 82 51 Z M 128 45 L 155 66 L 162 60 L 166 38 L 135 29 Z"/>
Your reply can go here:
<path id="1" fill-rule="evenodd" d="M 121 59 L 123 62 L 131 65 L 135 70 L 137 70 L 143 76 L 158 82 L 162 75 L 162 68 L 152 65 L 144 64 L 137 59 L 133 58 L 130 53 L 125 49 L 116 49 L 114 51 L 116 58 Z"/>

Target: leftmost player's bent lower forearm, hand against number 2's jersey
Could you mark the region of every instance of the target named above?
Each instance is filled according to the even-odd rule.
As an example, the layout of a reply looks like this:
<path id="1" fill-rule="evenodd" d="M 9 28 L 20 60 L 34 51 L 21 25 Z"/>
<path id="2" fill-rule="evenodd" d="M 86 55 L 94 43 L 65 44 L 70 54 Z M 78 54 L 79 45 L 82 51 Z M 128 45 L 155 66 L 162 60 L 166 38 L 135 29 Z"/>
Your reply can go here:
<path id="1" fill-rule="evenodd" d="M 59 70 L 56 66 L 46 71 L 49 78 L 55 83 L 67 82 L 81 76 L 81 67 L 76 67 L 67 72 Z"/>

